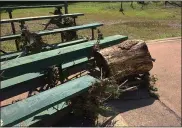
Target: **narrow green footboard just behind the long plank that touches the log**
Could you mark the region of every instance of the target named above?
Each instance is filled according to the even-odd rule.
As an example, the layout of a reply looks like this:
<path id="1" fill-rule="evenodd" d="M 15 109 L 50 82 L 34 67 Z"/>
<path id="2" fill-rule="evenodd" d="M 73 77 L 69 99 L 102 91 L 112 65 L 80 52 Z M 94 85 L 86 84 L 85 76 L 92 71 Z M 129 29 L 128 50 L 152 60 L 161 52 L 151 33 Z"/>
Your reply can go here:
<path id="1" fill-rule="evenodd" d="M 56 48 L 62 48 L 62 47 L 66 47 L 66 46 L 70 46 L 70 45 L 74 45 L 74 44 L 78 44 L 78 43 L 83 43 L 88 41 L 87 39 L 78 39 L 78 40 L 74 40 L 74 41 L 69 41 L 69 42 L 61 42 L 61 43 L 56 43 L 56 44 L 52 44 L 51 46 L 53 46 L 53 49 Z M 51 50 L 51 47 L 46 47 L 46 50 Z M 15 53 L 8 53 L 8 54 L 3 54 L 0 56 L 0 62 L 2 61 L 6 61 L 6 60 L 10 60 L 10 59 L 14 59 L 17 56 L 21 55 L 22 52 L 15 52 Z"/>

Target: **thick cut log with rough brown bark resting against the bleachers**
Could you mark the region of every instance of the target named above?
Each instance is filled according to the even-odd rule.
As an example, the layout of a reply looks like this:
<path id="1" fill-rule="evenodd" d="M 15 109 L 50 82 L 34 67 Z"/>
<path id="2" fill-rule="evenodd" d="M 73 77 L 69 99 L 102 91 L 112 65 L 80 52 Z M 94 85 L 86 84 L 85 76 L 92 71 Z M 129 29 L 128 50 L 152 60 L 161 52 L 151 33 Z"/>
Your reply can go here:
<path id="1" fill-rule="evenodd" d="M 148 47 L 142 40 L 128 40 L 102 49 L 94 56 L 105 77 L 124 78 L 147 73 L 153 68 Z"/>

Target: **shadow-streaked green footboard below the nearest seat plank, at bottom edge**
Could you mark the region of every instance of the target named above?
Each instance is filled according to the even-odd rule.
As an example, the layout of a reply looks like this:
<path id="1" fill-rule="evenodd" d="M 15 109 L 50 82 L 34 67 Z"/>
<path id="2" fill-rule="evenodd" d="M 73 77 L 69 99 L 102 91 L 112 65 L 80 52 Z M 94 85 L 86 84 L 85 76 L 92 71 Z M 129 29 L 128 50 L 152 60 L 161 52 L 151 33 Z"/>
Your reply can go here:
<path id="1" fill-rule="evenodd" d="M 39 121 L 42 121 L 42 120 L 44 120 L 46 118 L 45 117 L 45 118 L 40 119 L 40 118 L 37 118 L 37 117 L 41 117 L 41 116 L 45 116 L 45 115 L 46 116 L 53 115 L 57 111 L 63 110 L 66 107 L 68 107 L 66 102 L 62 102 L 62 103 L 60 103 L 58 105 L 55 105 L 55 106 L 53 106 L 53 107 L 51 107 L 51 108 L 49 108 L 49 109 L 47 109 L 45 111 L 40 112 L 39 114 L 37 114 L 37 115 L 35 115 L 35 116 L 33 116 L 33 117 L 29 118 L 29 119 L 26 119 L 26 120 L 16 124 L 14 127 L 22 127 L 22 125 L 23 125 L 23 127 L 31 126 L 31 125 L 33 125 L 33 124 L 35 124 L 35 123 L 37 123 Z"/>

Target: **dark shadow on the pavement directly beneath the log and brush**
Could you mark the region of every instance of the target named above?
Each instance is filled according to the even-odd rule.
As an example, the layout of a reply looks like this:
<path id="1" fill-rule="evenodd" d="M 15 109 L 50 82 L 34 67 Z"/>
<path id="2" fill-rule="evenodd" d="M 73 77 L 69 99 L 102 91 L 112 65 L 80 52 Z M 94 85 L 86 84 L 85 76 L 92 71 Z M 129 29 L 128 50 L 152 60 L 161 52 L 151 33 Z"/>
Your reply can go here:
<path id="1" fill-rule="evenodd" d="M 142 100 L 147 99 L 147 100 Z M 114 126 L 112 120 L 119 114 L 138 109 L 141 107 L 149 106 L 154 103 L 156 99 L 149 96 L 146 89 L 139 89 L 136 91 L 131 91 L 124 93 L 118 100 L 110 100 L 106 103 L 106 106 L 112 108 L 113 112 L 101 113 L 103 117 L 109 117 L 109 119 L 104 122 L 101 126 Z"/>

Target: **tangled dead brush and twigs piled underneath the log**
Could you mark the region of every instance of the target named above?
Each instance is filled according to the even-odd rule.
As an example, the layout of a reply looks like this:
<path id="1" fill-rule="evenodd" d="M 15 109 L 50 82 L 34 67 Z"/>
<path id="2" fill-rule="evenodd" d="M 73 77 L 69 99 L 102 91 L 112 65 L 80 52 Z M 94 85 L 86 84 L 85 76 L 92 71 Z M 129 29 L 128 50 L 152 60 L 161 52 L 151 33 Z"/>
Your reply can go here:
<path id="1" fill-rule="evenodd" d="M 122 93 L 139 89 L 140 87 L 147 88 L 151 97 L 159 98 L 157 88 L 155 87 L 156 76 L 147 73 L 127 78 L 125 80 L 118 80 L 118 78 L 110 77 L 101 80 L 101 82 L 94 83 L 87 92 L 67 102 L 71 106 L 71 113 L 92 122 L 97 122 L 100 113 L 114 111 L 112 108 L 104 106 L 106 101 L 119 99 Z"/>

